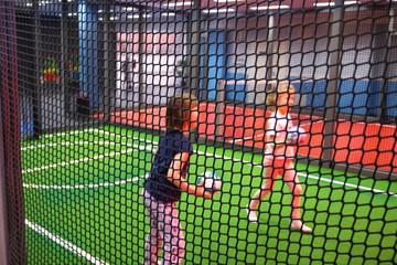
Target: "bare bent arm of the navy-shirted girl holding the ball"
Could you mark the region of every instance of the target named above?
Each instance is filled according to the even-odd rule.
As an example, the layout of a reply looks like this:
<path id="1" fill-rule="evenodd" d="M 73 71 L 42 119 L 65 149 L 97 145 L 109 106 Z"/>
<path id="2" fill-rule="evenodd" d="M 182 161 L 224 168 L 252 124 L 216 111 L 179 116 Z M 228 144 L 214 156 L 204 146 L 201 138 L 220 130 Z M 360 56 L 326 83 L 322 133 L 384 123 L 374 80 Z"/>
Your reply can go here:
<path id="1" fill-rule="evenodd" d="M 204 187 L 190 184 L 182 176 L 182 169 L 185 162 L 189 160 L 189 152 L 181 152 L 175 155 L 173 161 L 170 165 L 170 169 L 168 171 L 168 179 L 174 186 L 181 188 L 181 190 L 186 191 L 187 193 L 211 198 L 213 194 L 211 192 L 205 191 Z"/>

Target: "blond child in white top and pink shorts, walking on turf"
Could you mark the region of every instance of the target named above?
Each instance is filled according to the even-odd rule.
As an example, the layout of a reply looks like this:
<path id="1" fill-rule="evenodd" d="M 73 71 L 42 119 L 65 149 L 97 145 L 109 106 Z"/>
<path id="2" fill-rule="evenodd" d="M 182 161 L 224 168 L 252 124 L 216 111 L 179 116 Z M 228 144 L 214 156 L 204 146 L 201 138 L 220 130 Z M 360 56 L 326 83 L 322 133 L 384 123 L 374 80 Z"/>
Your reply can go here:
<path id="1" fill-rule="evenodd" d="M 293 106 L 293 97 L 294 89 L 289 84 L 280 84 L 267 95 L 266 103 L 273 108 L 273 113 L 266 127 L 266 150 L 264 156 L 265 181 L 262 188 L 254 194 L 246 210 L 248 220 L 250 222 L 257 222 L 256 210 L 259 201 L 264 200 L 265 197 L 271 192 L 277 177 L 281 176 L 292 193 L 291 229 L 299 230 L 303 233 L 311 233 L 312 230 L 301 221 L 300 198 L 302 188 L 292 163 L 297 147 L 294 142 L 287 140 L 288 130 L 293 127 L 291 117 L 288 114 L 290 107 Z"/>

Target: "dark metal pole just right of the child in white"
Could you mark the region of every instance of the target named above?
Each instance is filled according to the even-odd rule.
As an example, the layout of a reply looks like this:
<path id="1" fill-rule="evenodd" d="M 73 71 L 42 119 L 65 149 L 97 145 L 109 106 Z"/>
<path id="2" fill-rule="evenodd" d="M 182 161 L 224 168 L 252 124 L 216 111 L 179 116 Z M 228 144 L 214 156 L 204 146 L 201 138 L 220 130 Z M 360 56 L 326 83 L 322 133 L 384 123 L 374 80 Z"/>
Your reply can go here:
<path id="1" fill-rule="evenodd" d="M 323 144 L 322 167 L 332 168 L 334 166 L 334 142 L 335 142 L 335 123 L 336 123 L 336 96 L 340 80 L 341 49 L 342 49 L 342 20 L 343 20 L 343 0 L 335 1 L 335 9 L 332 14 L 332 29 L 330 40 L 330 71 L 326 87 L 325 106 L 325 129 Z"/>

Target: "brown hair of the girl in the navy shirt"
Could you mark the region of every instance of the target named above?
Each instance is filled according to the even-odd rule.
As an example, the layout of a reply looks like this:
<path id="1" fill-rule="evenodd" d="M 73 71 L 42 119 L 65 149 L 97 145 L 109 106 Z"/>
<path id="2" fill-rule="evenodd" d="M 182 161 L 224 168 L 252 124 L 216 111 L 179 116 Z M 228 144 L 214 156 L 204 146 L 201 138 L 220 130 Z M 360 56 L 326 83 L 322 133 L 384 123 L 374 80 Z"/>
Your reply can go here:
<path id="1" fill-rule="evenodd" d="M 191 109 L 198 106 L 198 100 L 189 93 L 170 98 L 167 106 L 167 129 L 182 129 L 183 121 L 190 119 Z"/>

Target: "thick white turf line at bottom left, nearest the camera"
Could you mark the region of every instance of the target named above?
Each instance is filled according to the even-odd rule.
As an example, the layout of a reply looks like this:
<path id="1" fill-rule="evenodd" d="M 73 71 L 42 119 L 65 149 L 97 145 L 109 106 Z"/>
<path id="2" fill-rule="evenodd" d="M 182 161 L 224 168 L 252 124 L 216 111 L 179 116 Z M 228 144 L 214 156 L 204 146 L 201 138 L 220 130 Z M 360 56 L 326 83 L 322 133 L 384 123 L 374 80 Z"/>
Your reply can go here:
<path id="1" fill-rule="evenodd" d="M 52 240 L 53 242 L 55 242 L 56 244 L 65 247 L 66 250 L 86 258 L 88 262 L 90 262 L 92 264 L 98 264 L 98 265 L 109 265 L 108 263 L 93 256 L 92 254 L 87 253 L 86 251 L 82 250 L 81 247 L 72 244 L 71 242 L 65 241 L 64 239 L 51 233 L 50 231 L 39 226 L 37 224 L 34 224 L 32 222 L 30 222 L 28 219 L 25 219 L 25 224 L 32 229 L 33 231 L 37 232 L 39 234 L 42 234 L 46 237 L 49 237 L 50 240 Z"/>

